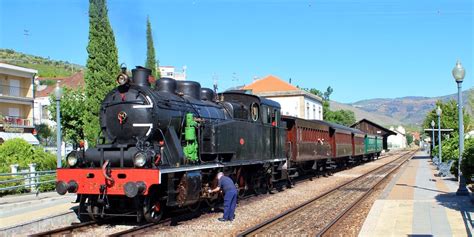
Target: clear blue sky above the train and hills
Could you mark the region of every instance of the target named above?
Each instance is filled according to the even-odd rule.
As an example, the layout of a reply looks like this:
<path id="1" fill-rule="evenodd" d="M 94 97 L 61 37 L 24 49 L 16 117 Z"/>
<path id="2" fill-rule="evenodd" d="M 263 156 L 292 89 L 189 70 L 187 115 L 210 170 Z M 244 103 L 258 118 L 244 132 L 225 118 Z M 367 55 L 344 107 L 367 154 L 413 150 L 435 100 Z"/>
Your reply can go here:
<path id="1" fill-rule="evenodd" d="M 144 65 L 146 18 L 163 66 L 219 90 L 275 75 L 344 103 L 474 86 L 472 0 L 109 0 L 119 62 Z M 86 0 L 0 0 L 0 48 L 85 65 Z M 25 30 L 28 35 L 25 36 Z"/>

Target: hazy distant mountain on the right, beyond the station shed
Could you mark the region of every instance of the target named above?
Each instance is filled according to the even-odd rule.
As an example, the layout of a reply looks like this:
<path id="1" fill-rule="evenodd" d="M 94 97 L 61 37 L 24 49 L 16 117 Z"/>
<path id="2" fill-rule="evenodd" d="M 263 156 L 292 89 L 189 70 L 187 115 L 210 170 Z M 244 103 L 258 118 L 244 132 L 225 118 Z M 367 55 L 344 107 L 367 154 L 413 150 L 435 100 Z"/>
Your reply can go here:
<path id="1" fill-rule="evenodd" d="M 474 89 L 472 88 L 463 92 L 463 102 L 466 111 L 472 115 L 472 108 L 467 103 L 470 95 L 474 95 Z M 448 101 L 451 99 L 457 100 L 457 94 L 439 97 L 407 96 L 395 99 L 377 98 L 361 100 L 352 104 L 344 104 L 343 106 L 354 111 L 356 117 L 360 111 L 368 113 L 365 116 L 375 114 L 377 117 L 374 117 L 373 121 L 379 122 L 382 125 L 404 124 L 419 126 L 423 123 L 426 113 L 435 107 L 436 101 Z M 360 114 L 363 115 L 363 113 Z M 398 123 L 394 123 L 396 121 Z"/>

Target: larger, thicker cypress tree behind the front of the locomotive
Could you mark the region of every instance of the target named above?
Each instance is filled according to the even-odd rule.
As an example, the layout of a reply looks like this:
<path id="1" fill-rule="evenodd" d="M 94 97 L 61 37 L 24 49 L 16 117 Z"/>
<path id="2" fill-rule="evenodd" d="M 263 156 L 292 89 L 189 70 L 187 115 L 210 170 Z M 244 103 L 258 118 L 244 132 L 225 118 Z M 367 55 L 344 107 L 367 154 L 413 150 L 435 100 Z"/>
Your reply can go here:
<path id="1" fill-rule="evenodd" d="M 89 44 L 85 72 L 86 106 L 84 135 L 94 145 L 100 132 L 99 109 L 107 93 L 115 87 L 120 72 L 115 37 L 107 15 L 106 0 L 89 0 Z"/>

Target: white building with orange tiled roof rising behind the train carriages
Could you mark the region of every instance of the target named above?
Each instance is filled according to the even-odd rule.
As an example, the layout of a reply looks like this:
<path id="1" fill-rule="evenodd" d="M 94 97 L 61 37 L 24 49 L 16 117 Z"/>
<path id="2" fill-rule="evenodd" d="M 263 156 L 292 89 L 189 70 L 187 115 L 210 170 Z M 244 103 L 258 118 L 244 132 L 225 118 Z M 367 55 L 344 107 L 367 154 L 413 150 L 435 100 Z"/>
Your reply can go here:
<path id="1" fill-rule="evenodd" d="M 242 88 L 254 95 L 280 103 L 281 114 L 303 119 L 323 120 L 323 100 L 276 76 L 266 76 Z"/>

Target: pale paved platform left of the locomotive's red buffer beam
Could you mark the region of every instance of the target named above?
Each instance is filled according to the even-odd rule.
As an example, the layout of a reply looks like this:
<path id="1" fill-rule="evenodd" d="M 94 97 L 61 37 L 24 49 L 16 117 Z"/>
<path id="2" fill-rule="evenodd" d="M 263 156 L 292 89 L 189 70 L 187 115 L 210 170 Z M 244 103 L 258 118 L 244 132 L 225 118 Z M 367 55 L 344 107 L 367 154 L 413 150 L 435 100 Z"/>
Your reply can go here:
<path id="1" fill-rule="evenodd" d="M 45 220 L 49 217 L 73 213 L 78 205 L 76 195 L 58 195 L 56 192 L 24 194 L 0 198 L 0 236 L 14 226 Z"/>

